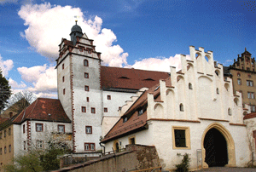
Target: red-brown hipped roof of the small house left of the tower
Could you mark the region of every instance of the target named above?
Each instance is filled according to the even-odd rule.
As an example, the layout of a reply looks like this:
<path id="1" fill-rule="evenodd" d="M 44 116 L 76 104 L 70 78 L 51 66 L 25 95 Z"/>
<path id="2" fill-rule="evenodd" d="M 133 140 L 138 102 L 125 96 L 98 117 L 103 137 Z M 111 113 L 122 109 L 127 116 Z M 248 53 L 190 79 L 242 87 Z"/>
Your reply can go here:
<path id="1" fill-rule="evenodd" d="M 13 120 L 13 123 L 22 123 L 26 119 L 38 121 L 54 121 L 71 123 L 61 106 L 61 101 L 56 99 L 38 98 Z"/>

